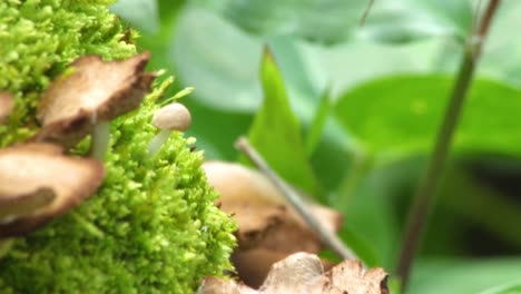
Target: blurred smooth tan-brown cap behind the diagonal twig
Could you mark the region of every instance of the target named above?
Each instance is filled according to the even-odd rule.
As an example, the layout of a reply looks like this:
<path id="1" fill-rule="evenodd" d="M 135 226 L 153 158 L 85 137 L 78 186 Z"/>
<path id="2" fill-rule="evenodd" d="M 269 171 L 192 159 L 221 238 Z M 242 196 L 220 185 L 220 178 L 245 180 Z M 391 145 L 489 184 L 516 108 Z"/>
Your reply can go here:
<path id="1" fill-rule="evenodd" d="M 323 249 L 318 235 L 263 174 L 222 161 L 203 167 L 220 194 L 220 208 L 237 220 L 238 247 L 232 261 L 244 283 L 257 287 L 273 263 L 295 252 L 317 254 Z M 340 228 L 342 216 L 337 212 L 316 204 L 309 204 L 309 209 L 331 231 Z"/>

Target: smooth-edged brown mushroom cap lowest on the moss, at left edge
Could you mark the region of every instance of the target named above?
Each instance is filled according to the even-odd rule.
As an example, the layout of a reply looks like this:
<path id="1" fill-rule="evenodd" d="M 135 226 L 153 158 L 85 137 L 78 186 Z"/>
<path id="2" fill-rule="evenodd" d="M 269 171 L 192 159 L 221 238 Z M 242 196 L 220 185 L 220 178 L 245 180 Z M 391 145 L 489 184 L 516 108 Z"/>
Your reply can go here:
<path id="1" fill-rule="evenodd" d="M 0 238 L 27 234 L 91 196 L 101 163 L 61 154 L 50 144 L 0 149 Z"/>

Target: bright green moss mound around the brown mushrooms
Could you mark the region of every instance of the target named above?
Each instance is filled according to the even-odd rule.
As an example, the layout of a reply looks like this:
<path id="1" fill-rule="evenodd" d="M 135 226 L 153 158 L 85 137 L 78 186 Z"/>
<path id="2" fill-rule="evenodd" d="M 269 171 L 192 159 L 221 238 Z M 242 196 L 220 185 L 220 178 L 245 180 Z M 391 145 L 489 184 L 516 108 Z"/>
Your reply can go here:
<path id="1" fill-rule="evenodd" d="M 124 29 L 106 4 L 0 3 L 0 26 L 8 23 L 0 27 L 0 88 L 17 96 L 14 116 L 0 127 L 2 146 L 38 129 L 35 105 L 72 59 L 119 59 L 136 51 L 120 41 Z M 0 293 L 191 293 L 203 276 L 230 268 L 235 224 L 214 205 L 203 154 L 187 148 L 194 139 L 173 134 L 148 156 L 157 133 L 150 125 L 155 100 L 164 90 L 155 89 L 138 110 L 111 121 L 107 177 L 97 195 L 17 239 L 0 259 Z"/>

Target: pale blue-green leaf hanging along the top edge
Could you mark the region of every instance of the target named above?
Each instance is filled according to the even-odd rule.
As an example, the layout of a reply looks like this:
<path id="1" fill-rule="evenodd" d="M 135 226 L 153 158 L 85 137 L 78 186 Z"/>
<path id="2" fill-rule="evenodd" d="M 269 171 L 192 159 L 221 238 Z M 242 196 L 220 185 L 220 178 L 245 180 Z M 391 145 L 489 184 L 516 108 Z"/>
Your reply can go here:
<path id="1" fill-rule="evenodd" d="M 296 36 L 313 42 L 338 43 L 356 33 L 385 42 L 429 36 L 465 35 L 472 10 L 466 1 L 374 1 L 366 23 L 360 22 L 367 0 L 200 0 L 243 30 L 257 36 Z M 433 8 L 434 7 L 434 8 Z"/>

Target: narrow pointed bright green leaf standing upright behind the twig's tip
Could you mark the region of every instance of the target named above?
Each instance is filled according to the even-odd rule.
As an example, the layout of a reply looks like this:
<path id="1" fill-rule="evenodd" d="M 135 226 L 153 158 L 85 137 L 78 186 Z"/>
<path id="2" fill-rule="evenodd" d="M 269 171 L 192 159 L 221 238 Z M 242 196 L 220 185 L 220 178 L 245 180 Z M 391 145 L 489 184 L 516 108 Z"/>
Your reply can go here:
<path id="1" fill-rule="evenodd" d="M 260 80 L 264 101 L 249 129 L 249 141 L 283 178 L 313 195 L 316 180 L 306 157 L 301 126 L 291 109 L 282 75 L 267 49 Z"/>

